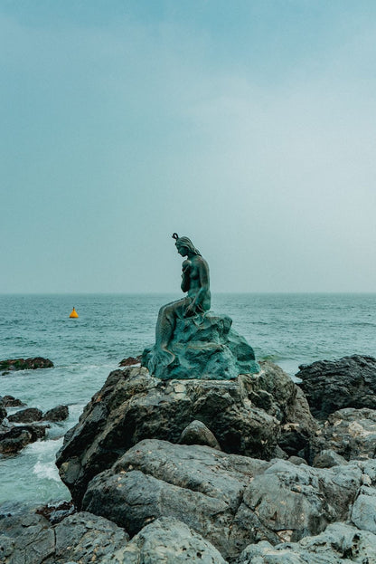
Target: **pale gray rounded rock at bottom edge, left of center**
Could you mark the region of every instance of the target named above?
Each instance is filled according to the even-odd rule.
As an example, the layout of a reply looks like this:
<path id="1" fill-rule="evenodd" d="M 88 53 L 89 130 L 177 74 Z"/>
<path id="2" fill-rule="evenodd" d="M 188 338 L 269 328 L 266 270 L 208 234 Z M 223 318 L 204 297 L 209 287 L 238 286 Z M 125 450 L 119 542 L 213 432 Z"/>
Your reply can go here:
<path id="1" fill-rule="evenodd" d="M 220 552 L 182 521 L 162 517 L 100 564 L 226 564 Z"/>

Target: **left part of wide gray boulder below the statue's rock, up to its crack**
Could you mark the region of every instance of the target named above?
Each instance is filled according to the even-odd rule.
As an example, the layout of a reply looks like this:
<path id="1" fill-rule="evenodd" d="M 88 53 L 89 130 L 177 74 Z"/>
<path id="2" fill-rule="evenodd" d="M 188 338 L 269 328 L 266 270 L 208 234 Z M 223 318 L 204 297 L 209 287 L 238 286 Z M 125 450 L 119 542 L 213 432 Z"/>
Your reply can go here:
<path id="1" fill-rule="evenodd" d="M 268 464 L 208 446 L 145 440 L 89 483 L 82 505 L 130 535 L 155 518 L 183 521 L 227 558 L 251 541 L 277 540 L 251 511 L 234 520 L 244 488 Z"/>

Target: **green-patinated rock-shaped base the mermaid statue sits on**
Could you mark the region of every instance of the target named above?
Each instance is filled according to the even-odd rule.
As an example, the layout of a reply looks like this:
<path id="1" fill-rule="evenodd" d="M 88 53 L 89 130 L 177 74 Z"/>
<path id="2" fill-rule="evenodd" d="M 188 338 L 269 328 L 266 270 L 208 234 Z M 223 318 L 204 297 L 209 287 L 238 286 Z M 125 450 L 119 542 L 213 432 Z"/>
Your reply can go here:
<path id="1" fill-rule="evenodd" d="M 244 337 L 231 330 L 227 315 L 208 311 L 178 318 L 169 355 L 155 346 L 145 349 L 142 366 L 156 378 L 230 380 L 240 374 L 259 372 L 255 353 Z"/>

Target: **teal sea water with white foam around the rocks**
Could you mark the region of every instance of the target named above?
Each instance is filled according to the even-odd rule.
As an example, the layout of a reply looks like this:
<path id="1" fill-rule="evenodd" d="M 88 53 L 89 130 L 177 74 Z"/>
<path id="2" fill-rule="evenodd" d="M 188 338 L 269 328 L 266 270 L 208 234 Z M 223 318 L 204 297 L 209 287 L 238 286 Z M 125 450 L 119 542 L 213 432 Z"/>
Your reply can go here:
<path id="1" fill-rule="evenodd" d="M 122 358 L 152 344 L 159 308 L 179 295 L 0 295 L 0 360 L 50 358 L 54 368 L 0 375 L 0 396 L 70 416 L 45 440 L 0 455 L 2 511 L 14 502 L 69 500 L 54 464 L 62 437 Z M 72 307 L 79 319 L 70 319 Z M 300 364 L 345 355 L 376 356 L 376 294 L 218 294 L 212 310 L 295 378 Z M 16 411 L 8 409 L 8 413 Z"/>

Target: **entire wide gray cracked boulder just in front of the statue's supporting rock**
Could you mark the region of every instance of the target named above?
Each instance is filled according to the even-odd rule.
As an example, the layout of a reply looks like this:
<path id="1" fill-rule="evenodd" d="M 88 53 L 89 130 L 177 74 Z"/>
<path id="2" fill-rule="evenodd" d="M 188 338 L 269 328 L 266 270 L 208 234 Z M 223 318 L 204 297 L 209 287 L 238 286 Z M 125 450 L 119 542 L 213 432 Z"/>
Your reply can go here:
<path id="1" fill-rule="evenodd" d="M 145 440 L 89 483 L 82 504 L 131 535 L 151 519 L 174 517 L 226 559 L 251 542 L 295 541 L 346 521 L 363 472 L 357 464 L 314 469 Z"/>

